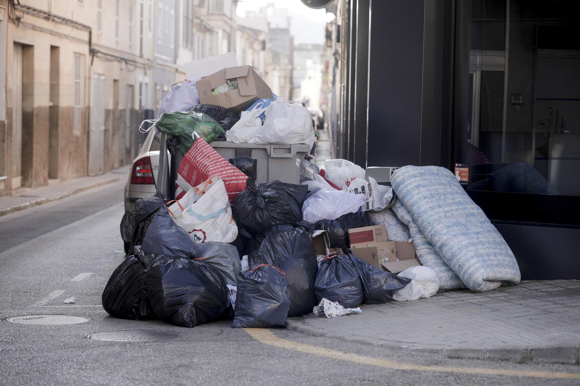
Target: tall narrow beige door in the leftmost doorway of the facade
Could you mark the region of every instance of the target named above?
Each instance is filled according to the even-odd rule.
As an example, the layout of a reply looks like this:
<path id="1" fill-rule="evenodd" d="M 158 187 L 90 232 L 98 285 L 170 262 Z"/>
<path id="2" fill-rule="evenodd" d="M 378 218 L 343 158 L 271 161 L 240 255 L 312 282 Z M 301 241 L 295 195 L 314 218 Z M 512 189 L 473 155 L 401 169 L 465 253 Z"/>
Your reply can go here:
<path id="1" fill-rule="evenodd" d="M 16 189 L 22 186 L 22 45 L 16 43 L 12 68 L 12 189 Z"/>

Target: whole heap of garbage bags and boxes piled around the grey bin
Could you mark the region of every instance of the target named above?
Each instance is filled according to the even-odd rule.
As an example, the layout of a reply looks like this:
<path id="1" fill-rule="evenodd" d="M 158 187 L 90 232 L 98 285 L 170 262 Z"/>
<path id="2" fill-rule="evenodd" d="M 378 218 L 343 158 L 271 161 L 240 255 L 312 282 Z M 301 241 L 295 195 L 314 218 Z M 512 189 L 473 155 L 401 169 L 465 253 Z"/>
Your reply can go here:
<path id="1" fill-rule="evenodd" d="M 248 79 L 254 92 L 241 93 Z M 310 312 L 358 314 L 361 304 L 417 300 L 440 289 L 442 265 L 427 266 L 426 244 L 414 243 L 415 235 L 437 239 L 437 231 L 416 225 L 420 208 L 406 184 L 379 184 L 344 159 L 321 169 L 311 155 L 296 162 L 299 181 L 256 184 L 256 160 L 229 162 L 212 148 L 215 140 L 314 147 L 310 112 L 273 95 L 253 68 L 177 83 L 150 123 L 179 141 L 177 189 L 174 197 L 137 199 L 125 213 L 121 237 L 132 254 L 104 289 L 108 314 L 183 327 L 217 319 L 231 319 L 232 327 L 285 326 Z M 471 253 L 467 244 L 461 247 Z"/>

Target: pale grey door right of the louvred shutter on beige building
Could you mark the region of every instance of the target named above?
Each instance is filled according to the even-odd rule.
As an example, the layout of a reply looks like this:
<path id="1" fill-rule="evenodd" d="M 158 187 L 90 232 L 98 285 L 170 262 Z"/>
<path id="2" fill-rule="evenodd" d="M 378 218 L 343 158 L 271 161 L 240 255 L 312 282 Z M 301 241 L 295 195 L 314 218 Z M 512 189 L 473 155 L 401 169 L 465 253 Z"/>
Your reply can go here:
<path id="1" fill-rule="evenodd" d="M 89 136 L 89 176 L 104 171 L 105 76 L 93 74 L 93 108 Z"/>

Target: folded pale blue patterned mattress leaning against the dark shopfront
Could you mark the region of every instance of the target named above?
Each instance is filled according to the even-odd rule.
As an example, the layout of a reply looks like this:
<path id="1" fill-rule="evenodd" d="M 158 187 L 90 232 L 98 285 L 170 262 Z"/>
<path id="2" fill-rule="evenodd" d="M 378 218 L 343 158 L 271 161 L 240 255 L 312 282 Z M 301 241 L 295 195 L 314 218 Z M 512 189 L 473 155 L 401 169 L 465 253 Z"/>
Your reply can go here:
<path id="1" fill-rule="evenodd" d="M 409 229 L 421 264 L 441 289 L 483 292 L 519 283 L 520 268 L 502 235 L 453 173 L 438 166 L 404 166 L 391 176 L 393 212 Z M 388 234 L 387 230 L 387 234 Z"/>

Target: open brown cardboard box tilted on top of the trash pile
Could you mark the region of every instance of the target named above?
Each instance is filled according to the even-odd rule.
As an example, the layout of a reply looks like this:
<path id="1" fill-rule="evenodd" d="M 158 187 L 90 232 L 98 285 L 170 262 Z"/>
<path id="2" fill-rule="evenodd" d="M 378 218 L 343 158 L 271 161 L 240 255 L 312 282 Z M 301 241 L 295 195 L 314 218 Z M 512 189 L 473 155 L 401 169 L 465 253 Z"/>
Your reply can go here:
<path id="1" fill-rule="evenodd" d="M 216 88 L 226 81 L 237 81 L 237 89 L 217 93 Z M 197 81 L 200 103 L 219 105 L 240 112 L 256 99 L 271 98 L 272 90 L 249 65 L 228 67 Z"/>

